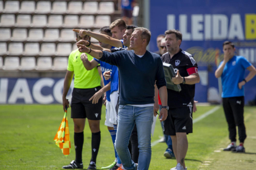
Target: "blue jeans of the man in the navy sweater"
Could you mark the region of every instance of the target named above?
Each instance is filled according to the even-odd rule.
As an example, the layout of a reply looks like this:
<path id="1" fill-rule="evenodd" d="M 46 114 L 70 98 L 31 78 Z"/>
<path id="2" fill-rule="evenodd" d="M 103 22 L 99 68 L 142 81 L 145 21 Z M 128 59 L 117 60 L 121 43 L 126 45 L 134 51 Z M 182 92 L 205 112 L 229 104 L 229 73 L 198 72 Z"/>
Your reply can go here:
<path id="1" fill-rule="evenodd" d="M 134 124 L 137 126 L 139 143 L 138 170 L 148 170 L 151 160 L 151 126 L 153 107 L 134 107 L 119 105 L 117 118 L 116 152 L 127 170 L 135 170 L 135 163 L 128 150 L 130 135 Z"/>

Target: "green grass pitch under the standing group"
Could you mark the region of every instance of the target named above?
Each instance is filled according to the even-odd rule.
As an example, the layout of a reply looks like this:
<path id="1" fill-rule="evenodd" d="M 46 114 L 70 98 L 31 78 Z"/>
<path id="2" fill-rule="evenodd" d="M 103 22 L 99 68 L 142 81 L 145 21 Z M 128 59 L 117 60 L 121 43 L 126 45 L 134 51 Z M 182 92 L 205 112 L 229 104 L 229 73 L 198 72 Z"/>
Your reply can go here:
<path id="1" fill-rule="evenodd" d="M 194 119 L 216 106 L 198 107 Z M 229 169 L 237 164 L 242 169 L 256 169 L 256 108 L 245 107 L 245 126 L 247 139 L 245 149 L 249 154 L 225 153 L 221 147 L 228 145 L 228 125 L 223 108 L 194 124 L 194 133 L 189 134 L 189 150 L 186 156 L 188 169 Z M 67 111 L 71 152 L 64 156 L 53 140 L 63 118 L 62 105 L 0 105 L 0 169 L 61 169 L 75 159 L 74 124 Z M 97 169 L 114 161 L 114 148 L 105 121 L 105 107 L 101 115 L 101 145 L 97 158 Z M 159 120 L 156 122 L 152 142 L 163 136 Z M 84 169 L 91 157 L 91 132 L 86 123 L 83 144 Z M 246 143 L 247 142 L 247 143 Z M 152 147 L 150 169 L 170 169 L 176 160 L 164 158 L 166 144 L 158 143 Z M 216 151 L 217 150 L 217 151 Z M 218 151 L 219 150 L 219 151 Z M 238 160 L 238 161 L 237 161 Z M 240 160 L 240 161 L 239 161 Z M 233 169 L 233 168 L 231 168 Z"/>

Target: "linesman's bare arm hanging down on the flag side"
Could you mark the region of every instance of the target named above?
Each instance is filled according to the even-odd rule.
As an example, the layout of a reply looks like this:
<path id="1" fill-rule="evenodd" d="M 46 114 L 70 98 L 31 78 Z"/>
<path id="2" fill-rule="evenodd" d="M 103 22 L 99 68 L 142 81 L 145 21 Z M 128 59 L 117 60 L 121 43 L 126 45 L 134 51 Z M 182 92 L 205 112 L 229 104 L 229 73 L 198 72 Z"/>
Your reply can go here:
<path id="1" fill-rule="evenodd" d="M 64 87 L 63 87 L 63 93 L 62 93 L 62 105 L 63 105 L 64 111 L 66 106 L 69 108 L 69 101 L 66 99 L 66 96 L 67 96 L 67 92 L 69 91 L 69 87 L 72 82 L 73 75 L 74 75 L 74 71 L 67 70 L 67 73 L 64 79 Z"/>

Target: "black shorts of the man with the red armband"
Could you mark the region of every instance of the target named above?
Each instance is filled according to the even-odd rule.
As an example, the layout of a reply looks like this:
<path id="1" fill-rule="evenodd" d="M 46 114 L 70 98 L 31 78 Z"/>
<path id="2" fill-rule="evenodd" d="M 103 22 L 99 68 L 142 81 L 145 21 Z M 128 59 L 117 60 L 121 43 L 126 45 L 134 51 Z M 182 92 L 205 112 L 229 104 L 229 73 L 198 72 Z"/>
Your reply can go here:
<path id="1" fill-rule="evenodd" d="M 168 116 L 163 122 L 164 134 L 168 136 L 176 136 L 176 132 L 186 132 L 187 134 L 193 132 L 193 107 L 169 108 Z"/>

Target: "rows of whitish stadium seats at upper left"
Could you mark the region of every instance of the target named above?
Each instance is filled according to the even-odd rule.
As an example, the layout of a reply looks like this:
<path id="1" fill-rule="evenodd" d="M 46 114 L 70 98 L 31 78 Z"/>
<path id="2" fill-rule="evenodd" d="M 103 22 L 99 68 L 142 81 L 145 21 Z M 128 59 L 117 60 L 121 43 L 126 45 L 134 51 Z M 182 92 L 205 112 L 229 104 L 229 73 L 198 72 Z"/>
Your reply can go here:
<path id="1" fill-rule="evenodd" d="M 0 69 L 66 70 L 77 49 L 72 28 L 98 33 L 111 23 L 113 1 L 0 0 Z"/>

